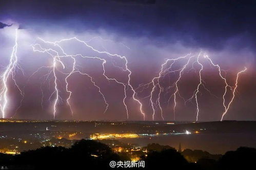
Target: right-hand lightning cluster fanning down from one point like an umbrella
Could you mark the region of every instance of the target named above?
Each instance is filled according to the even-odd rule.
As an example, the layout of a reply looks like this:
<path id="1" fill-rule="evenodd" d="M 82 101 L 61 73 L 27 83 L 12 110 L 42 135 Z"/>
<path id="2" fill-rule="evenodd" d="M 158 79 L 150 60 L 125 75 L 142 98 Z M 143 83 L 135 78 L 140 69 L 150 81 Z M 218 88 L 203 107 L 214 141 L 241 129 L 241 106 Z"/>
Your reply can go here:
<path id="1" fill-rule="evenodd" d="M 179 97 L 181 97 L 183 100 L 184 100 L 184 103 L 186 105 L 186 102 L 187 101 L 190 101 L 192 102 L 192 99 L 194 98 L 195 99 L 195 105 L 196 105 L 196 121 L 198 121 L 199 119 L 199 112 L 200 112 L 200 103 L 199 103 L 199 93 L 200 92 L 200 88 L 204 88 L 210 95 L 218 98 L 217 96 L 215 96 L 214 94 L 212 94 L 205 86 L 205 81 L 203 80 L 202 78 L 202 71 L 204 69 L 204 65 L 203 65 L 203 62 L 201 62 L 200 60 L 200 57 L 202 56 L 202 52 L 200 52 L 198 54 L 198 56 L 196 57 L 196 60 L 192 62 L 192 67 L 189 69 L 189 71 L 191 70 L 194 70 L 194 72 L 196 72 L 195 68 L 194 68 L 194 64 L 197 63 L 199 66 L 200 66 L 200 70 L 198 72 L 199 74 L 199 83 L 197 84 L 196 86 L 196 89 L 194 90 L 193 92 L 193 95 L 185 100 L 179 93 L 179 82 L 181 80 L 181 77 L 182 75 L 184 74 L 184 70 L 187 69 L 188 65 L 189 65 L 189 62 L 191 61 L 191 59 L 194 57 L 194 56 L 190 56 L 191 54 L 187 54 L 186 56 L 184 57 L 179 57 L 179 58 L 175 58 L 175 59 L 167 59 L 162 65 L 161 65 L 161 70 L 158 74 L 158 76 L 156 77 L 153 77 L 153 79 L 149 82 L 149 83 L 142 83 L 142 84 L 139 84 L 139 86 L 135 89 L 136 93 L 142 93 L 145 89 L 148 89 L 152 86 L 152 90 L 150 91 L 150 94 L 146 97 L 143 97 L 144 98 L 149 98 L 149 101 L 150 101 L 150 107 L 152 108 L 152 111 L 153 111 L 153 114 L 152 114 L 152 118 L 154 120 L 154 115 L 155 115 L 155 112 L 156 112 L 156 105 L 157 107 L 160 109 L 160 112 L 161 112 L 161 116 L 162 116 L 162 119 L 164 120 L 163 118 L 163 109 L 161 107 L 161 104 L 160 104 L 160 95 L 162 93 L 162 88 L 160 86 L 160 81 L 161 79 L 163 80 L 167 74 L 169 73 L 176 73 L 178 72 L 179 73 L 179 77 L 176 81 L 174 81 L 174 83 L 172 84 L 172 86 L 170 86 L 170 88 L 174 88 L 174 93 L 172 95 L 170 95 L 169 99 L 168 99 L 168 103 L 170 102 L 170 99 L 173 97 L 173 116 L 174 116 L 174 120 L 175 120 L 175 108 L 176 108 L 176 105 L 177 105 L 177 101 L 176 101 L 176 97 L 177 95 L 179 95 Z M 177 60 L 180 60 L 180 59 L 183 59 L 183 58 L 188 58 L 187 62 L 182 66 L 181 69 L 178 69 L 178 70 L 172 70 L 172 66 L 174 65 L 175 61 Z M 224 91 L 224 94 L 222 96 L 223 98 L 223 107 L 225 109 L 225 111 L 223 112 L 222 114 L 222 119 L 221 121 L 223 120 L 223 116 L 227 113 L 227 111 L 229 110 L 229 107 L 230 107 L 230 104 L 232 103 L 234 97 L 235 97 L 235 90 L 237 89 L 238 87 L 238 77 L 239 77 L 239 74 L 241 74 L 242 72 L 246 71 L 246 68 L 242 71 L 240 71 L 238 74 L 237 74 L 237 79 L 236 79 L 236 83 L 235 83 L 235 87 L 231 87 L 228 83 L 227 83 L 227 80 L 226 78 L 222 75 L 222 70 L 221 67 L 219 65 L 216 65 L 213 63 L 213 61 L 209 58 L 209 56 L 207 54 L 204 54 L 204 58 L 209 60 L 210 61 L 210 64 L 214 67 L 216 67 L 219 71 L 219 76 L 223 79 L 223 81 L 225 82 L 225 91 Z M 164 69 L 167 65 L 168 65 L 168 62 L 169 61 L 172 61 L 169 65 L 168 68 Z M 225 72 L 226 73 L 226 72 Z M 231 100 L 229 101 L 228 105 L 226 106 L 225 104 L 225 97 L 227 95 L 227 90 L 228 88 L 232 91 L 232 98 Z M 156 91 L 156 89 L 159 89 L 159 91 L 157 92 L 157 98 L 155 99 L 156 102 L 154 102 L 154 99 L 153 99 L 153 94 L 154 92 Z"/>

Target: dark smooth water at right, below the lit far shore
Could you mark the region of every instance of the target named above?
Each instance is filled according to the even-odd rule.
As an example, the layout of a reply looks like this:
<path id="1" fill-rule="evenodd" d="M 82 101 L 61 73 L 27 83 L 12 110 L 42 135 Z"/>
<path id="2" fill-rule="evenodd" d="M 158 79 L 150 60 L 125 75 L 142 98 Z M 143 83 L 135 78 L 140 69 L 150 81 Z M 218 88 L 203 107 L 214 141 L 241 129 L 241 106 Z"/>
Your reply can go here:
<path id="1" fill-rule="evenodd" d="M 159 143 L 175 148 L 182 145 L 182 149 L 203 150 L 211 154 L 224 154 L 234 151 L 240 146 L 256 147 L 255 133 L 228 133 L 228 134 L 189 134 L 172 136 L 154 136 L 143 138 L 120 139 L 126 143 L 136 143 L 145 146 L 148 143 Z"/>

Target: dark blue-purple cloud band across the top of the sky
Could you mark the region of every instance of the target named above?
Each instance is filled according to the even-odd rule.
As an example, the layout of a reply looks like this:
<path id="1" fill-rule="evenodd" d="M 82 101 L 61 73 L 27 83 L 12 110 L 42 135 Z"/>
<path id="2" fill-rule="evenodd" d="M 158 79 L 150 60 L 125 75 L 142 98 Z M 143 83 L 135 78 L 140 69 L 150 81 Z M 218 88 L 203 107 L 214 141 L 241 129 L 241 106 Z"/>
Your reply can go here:
<path id="1" fill-rule="evenodd" d="M 238 36 L 234 49 L 256 49 L 254 1 L 6 1 L 0 10 L 2 17 L 36 29 L 105 29 L 122 36 L 219 50 Z"/>

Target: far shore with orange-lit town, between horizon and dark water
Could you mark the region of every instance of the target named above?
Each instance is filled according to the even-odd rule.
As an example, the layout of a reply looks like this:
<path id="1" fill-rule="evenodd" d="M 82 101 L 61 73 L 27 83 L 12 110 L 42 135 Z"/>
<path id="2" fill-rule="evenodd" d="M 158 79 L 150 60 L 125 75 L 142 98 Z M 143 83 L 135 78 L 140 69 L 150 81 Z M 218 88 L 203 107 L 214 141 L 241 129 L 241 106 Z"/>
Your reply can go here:
<path id="1" fill-rule="evenodd" d="M 223 132 L 250 132 L 254 123 L 248 122 L 99 122 L 99 121 L 40 121 L 1 119 L 1 152 L 22 152 L 44 146 L 70 147 L 80 139 L 147 140 L 186 135 L 207 135 Z M 233 124 L 235 128 L 233 128 Z M 225 128 L 223 128 L 225 125 Z M 229 127 L 227 128 L 227 127 Z M 114 129 L 113 129 L 114 127 Z M 213 128 L 214 127 L 214 128 Z M 243 128 L 242 128 L 243 127 Z M 248 128 L 246 128 L 248 127 Z M 176 141 L 175 147 L 183 139 Z M 134 141 L 135 143 L 136 141 Z M 127 142 L 129 143 L 129 142 Z M 113 143 L 109 143 L 112 146 Z M 136 145 L 143 147 L 144 145 Z M 198 146 L 200 148 L 200 146 Z M 220 147 L 221 148 L 221 147 Z M 213 150 L 214 151 L 214 150 Z M 220 153 L 225 152 L 225 148 Z"/>

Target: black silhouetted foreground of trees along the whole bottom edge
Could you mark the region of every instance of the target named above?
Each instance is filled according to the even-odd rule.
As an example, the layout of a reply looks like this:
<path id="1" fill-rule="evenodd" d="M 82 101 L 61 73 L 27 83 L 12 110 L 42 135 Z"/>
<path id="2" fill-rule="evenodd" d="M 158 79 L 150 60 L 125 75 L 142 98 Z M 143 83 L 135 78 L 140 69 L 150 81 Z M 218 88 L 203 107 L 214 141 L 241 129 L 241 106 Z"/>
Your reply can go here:
<path id="1" fill-rule="evenodd" d="M 194 163 L 188 162 L 180 152 L 170 146 L 163 147 L 162 151 L 148 149 L 150 151 L 147 155 L 140 158 L 145 161 L 144 169 L 247 169 L 254 167 L 256 158 L 256 149 L 249 147 L 229 151 L 217 160 L 206 156 Z M 125 160 L 128 160 L 127 157 L 114 153 L 108 145 L 83 139 L 70 148 L 47 146 L 22 152 L 21 155 L 1 154 L 0 166 L 8 169 L 107 169 L 111 168 L 110 161 Z"/>

